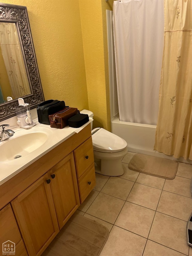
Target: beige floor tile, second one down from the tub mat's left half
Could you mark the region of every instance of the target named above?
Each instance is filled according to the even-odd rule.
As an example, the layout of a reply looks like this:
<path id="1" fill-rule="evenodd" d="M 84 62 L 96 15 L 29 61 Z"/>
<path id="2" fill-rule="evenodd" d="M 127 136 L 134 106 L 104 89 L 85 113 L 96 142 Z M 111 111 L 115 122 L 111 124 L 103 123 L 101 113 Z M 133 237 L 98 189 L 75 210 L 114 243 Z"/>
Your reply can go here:
<path id="1" fill-rule="evenodd" d="M 127 198 L 127 201 L 156 210 L 161 192 L 161 189 L 135 183 Z"/>

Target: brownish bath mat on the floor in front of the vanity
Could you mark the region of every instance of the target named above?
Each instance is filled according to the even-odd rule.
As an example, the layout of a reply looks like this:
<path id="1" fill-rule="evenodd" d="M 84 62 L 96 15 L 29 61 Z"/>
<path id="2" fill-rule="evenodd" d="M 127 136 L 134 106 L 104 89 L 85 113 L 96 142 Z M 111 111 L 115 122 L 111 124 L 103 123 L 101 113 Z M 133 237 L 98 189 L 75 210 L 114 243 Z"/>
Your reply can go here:
<path id="1" fill-rule="evenodd" d="M 74 214 L 42 256 L 98 256 L 108 236 L 107 227 Z"/>

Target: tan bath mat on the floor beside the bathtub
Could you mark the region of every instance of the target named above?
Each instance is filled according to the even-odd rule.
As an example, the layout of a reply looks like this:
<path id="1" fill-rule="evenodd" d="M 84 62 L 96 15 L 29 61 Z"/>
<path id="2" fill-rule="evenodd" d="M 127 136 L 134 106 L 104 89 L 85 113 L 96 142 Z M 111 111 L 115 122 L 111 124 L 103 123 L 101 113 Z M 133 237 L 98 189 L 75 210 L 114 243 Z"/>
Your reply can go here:
<path id="1" fill-rule="evenodd" d="M 178 162 L 143 154 L 135 154 L 129 163 L 129 169 L 153 176 L 174 179 Z"/>

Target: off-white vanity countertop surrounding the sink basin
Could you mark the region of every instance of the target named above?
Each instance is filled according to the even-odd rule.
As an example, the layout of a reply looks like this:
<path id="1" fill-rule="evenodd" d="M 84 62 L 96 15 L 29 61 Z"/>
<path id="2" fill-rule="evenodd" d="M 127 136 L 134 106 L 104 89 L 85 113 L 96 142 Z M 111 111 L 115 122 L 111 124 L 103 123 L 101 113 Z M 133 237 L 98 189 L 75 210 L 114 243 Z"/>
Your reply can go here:
<path id="1" fill-rule="evenodd" d="M 34 122 L 36 122 L 37 125 L 35 125 L 30 129 L 23 129 L 18 127 L 12 129 L 13 131 L 15 131 L 15 134 L 13 135 L 13 137 L 10 137 L 8 140 L 2 141 L 0 143 L 1 152 L 3 150 L 3 145 L 5 143 L 7 143 L 10 140 L 14 140 L 16 137 L 22 136 L 27 133 L 43 132 L 44 134 L 47 135 L 48 139 L 37 149 L 26 154 L 25 156 L 12 159 L 12 160 L 7 160 L 7 161 L 0 160 L 0 185 L 2 185 L 4 182 L 6 182 L 7 180 L 15 176 L 17 173 L 24 170 L 26 167 L 28 167 L 30 164 L 32 164 L 33 162 L 41 158 L 47 152 L 51 151 L 53 148 L 55 148 L 56 146 L 58 146 L 59 144 L 67 140 L 73 134 L 81 131 L 85 126 L 87 126 L 92 121 L 93 119 L 90 118 L 89 122 L 87 122 L 85 125 L 82 125 L 80 128 L 71 128 L 67 126 L 63 129 L 57 129 L 57 128 L 51 128 L 49 125 L 40 124 L 38 122 L 38 119 L 34 119 Z M 17 139 L 17 141 L 19 140 Z M 11 148 L 8 151 L 11 151 Z M 18 151 L 19 151 L 19 143 L 18 143 Z M 9 152 L 6 152 L 6 154 L 9 155 Z M 15 155 L 18 155 L 17 152 L 15 152 Z"/>

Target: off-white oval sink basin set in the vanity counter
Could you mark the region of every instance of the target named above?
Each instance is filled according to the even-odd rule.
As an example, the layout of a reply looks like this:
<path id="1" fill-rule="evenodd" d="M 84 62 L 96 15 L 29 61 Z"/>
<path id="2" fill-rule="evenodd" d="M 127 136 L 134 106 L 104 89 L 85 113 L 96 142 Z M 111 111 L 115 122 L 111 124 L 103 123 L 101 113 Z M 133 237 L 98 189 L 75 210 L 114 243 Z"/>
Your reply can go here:
<path id="1" fill-rule="evenodd" d="M 28 132 L 26 134 L 19 134 L 19 136 L 15 136 L 15 134 L 8 140 L 0 143 L 0 162 L 25 157 L 43 146 L 49 138 L 49 134 L 43 131 Z"/>

